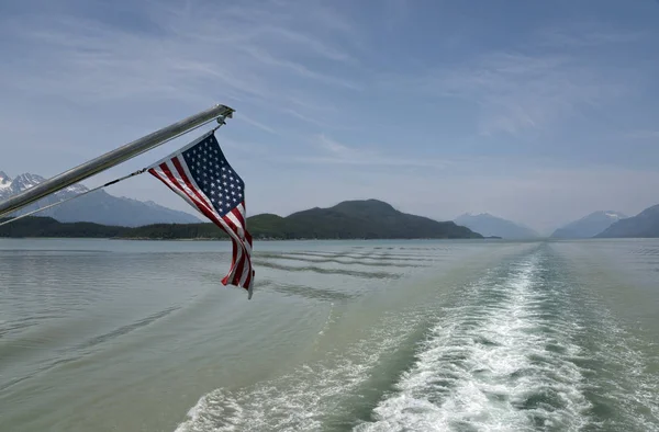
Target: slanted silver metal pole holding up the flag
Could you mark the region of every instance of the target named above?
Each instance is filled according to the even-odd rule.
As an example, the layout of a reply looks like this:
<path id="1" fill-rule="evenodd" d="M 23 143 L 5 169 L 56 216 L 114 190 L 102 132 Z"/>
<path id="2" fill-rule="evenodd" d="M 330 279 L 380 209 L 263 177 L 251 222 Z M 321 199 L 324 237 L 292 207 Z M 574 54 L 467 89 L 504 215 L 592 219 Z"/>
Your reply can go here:
<path id="1" fill-rule="evenodd" d="M 188 118 L 183 118 L 178 123 L 166 126 L 154 132 L 153 134 L 146 135 L 134 140 L 133 143 L 129 143 L 76 168 L 71 168 L 59 175 L 51 178 L 45 182 L 40 183 L 34 187 L 30 187 L 23 193 L 20 193 L 0 203 L 0 217 L 30 205 L 33 202 L 52 194 L 53 192 L 57 192 L 60 189 L 69 186 L 74 183 L 78 183 L 91 175 L 98 174 L 108 168 L 112 168 L 115 164 L 125 162 L 137 155 L 159 146 L 163 144 L 163 141 L 169 138 L 208 123 L 216 117 L 226 116 L 231 118 L 233 112 L 234 110 L 228 106 L 215 105 L 212 109 L 202 111 Z"/>

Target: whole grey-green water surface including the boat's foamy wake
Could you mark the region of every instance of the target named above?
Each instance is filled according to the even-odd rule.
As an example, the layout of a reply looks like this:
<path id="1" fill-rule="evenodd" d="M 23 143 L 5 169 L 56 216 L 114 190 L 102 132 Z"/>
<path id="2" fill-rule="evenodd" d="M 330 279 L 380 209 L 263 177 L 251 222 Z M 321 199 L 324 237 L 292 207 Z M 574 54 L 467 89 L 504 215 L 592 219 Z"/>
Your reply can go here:
<path id="1" fill-rule="evenodd" d="M 659 431 L 659 241 L 0 240 L 0 431 Z"/>

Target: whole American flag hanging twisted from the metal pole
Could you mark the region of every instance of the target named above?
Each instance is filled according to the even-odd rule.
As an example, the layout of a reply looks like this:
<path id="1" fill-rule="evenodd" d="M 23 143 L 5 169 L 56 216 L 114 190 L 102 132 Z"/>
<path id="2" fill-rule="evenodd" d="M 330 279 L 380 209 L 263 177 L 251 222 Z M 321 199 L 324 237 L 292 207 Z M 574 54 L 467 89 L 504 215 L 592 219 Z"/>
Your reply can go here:
<path id="1" fill-rule="evenodd" d="M 148 172 L 228 234 L 231 269 L 222 284 L 247 289 L 252 298 L 252 236 L 245 216 L 245 182 L 228 164 L 210 132 L 148 168 Z"/>

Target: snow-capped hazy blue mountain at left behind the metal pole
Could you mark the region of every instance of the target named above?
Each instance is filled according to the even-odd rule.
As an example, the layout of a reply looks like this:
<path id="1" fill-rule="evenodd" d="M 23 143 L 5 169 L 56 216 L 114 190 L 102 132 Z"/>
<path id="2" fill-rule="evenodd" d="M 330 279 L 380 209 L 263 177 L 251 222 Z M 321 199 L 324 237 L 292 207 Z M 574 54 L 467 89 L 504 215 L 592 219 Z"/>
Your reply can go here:
<path id="1" fill-rule="evenodd" d="M 41 175 L 30 173 L 21 174 L 12 180 L 4 172 L 0 171 L 0 201 L 30 189 L 44 180 Z M 88 189 L 82 184 L 70 185 L 22 208 L 16 212 L 16 215 L 64 201 L 87 191 Z M 91 221 L 124 227 L 149 224 L 194 224 L 200 221 L 198 217 L 188 213 L 163 207 L 152 201 L 144 203 L 137 200 L 116 197 L 103 190 L 40 212 L 36 216 L 51 216 L 65 223 Z"/>

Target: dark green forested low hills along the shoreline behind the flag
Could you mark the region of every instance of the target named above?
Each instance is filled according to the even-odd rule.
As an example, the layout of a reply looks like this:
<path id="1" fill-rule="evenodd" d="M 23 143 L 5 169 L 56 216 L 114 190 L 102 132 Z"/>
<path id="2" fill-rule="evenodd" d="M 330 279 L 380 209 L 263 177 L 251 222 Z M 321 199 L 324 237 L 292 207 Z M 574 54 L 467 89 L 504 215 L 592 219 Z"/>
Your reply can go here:
<path id="1" fill-rule="evenodd" d="M 348 201 L 287 217 L 261 214 L 247 218 L 256 239 L 461 239 L 482 238 L 453 221 L 409 215 L 377 200 Z M 156 224 L 127 228 L 90 223 L 63 224 L 27 217 L 0 227 L 0 237 L 89 237 L 143 239 L 222 239 L 213 224 Z"/>

